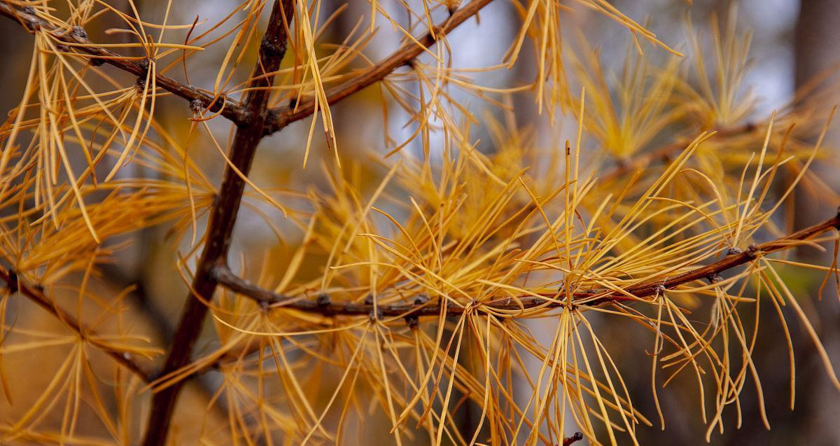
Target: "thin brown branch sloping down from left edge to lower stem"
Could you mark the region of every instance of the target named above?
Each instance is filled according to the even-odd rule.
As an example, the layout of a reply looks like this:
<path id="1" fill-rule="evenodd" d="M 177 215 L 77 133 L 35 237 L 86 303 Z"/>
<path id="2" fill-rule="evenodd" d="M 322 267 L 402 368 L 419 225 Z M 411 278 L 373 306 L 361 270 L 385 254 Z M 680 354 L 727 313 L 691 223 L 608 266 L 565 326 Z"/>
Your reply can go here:
<path id="1" fill-rule="evenodd" d="M 34 286 L 21 280 L 13 270 L 6 270 L 3 267 L 0 267 L 0 279 L 5 282 L 9 290 L 19 291 L 21 294 L 28 297 L 30 301 L 37 303 L 40 307 L 55 315 L 55 317 L 64 323 L 67 328 L 70 328 L 73 332 L 75 332 L 80 338 L 86 340 L 88 344 L 91 344 L 97 349 L 102 350 L 104 354 L 108 354 L 108 356 L 117 361 L 118 364 L 131 370 L 134 375 L 138 375 L 140 379 L 144 380 L 144 382 L 151 381 L 152 373 L 150 370 L 147 370 L 143 365 L 135 362 L 129 352 L 114 349 L 108 344 L 102 344 L 97 341 L 96 338 L 98 335 L 92 328 L 83 326 L 76 317 L 73 317 L 70 313 L 56 306 L 55 302 L 45 296 L 44 291 L 41 291 L 39 286 Z"/>

